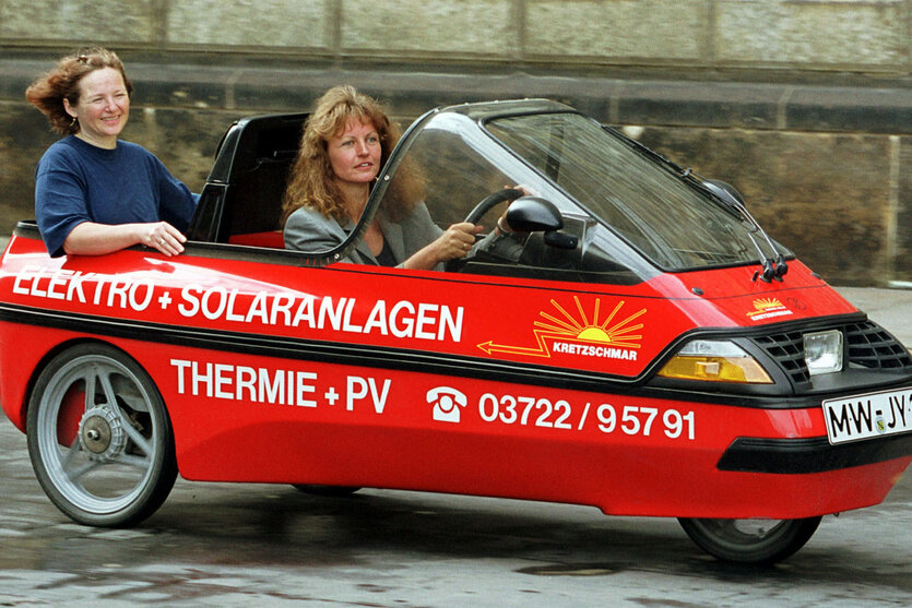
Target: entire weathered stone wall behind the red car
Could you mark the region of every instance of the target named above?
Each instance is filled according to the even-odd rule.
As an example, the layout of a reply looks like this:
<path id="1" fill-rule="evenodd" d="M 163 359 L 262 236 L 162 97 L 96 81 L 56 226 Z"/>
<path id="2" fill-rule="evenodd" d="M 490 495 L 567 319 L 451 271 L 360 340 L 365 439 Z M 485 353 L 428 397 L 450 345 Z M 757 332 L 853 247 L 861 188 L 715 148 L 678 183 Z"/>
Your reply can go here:
<path id="1" fill-rule="evenodd" d="M 55 140 L 25 86 L 103 44 L 135 84 L 125 136 L 196 190 L 232 120 L 341 82 L 403 122 L 550 97 L 735 183 L 832 283 L 912 282 L 910 32 L 912 0 L 0 0 L 0 231 Z"/>

